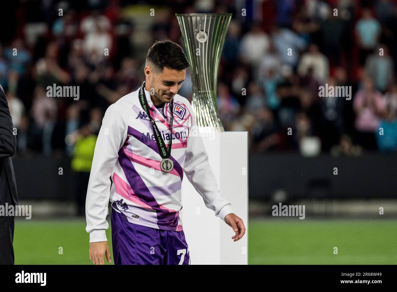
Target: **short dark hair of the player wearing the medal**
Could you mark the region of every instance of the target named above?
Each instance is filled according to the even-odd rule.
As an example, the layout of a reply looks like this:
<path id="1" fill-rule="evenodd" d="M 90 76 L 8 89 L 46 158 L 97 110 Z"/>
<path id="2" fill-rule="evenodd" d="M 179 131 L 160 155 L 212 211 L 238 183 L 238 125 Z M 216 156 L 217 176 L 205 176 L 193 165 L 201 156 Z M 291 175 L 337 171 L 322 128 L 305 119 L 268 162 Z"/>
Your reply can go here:
<path id="1" fill-rule="evenodd" d="M 164 67 L 173 70 L 183 70 L 189 67 L 189 61 L 179 44 L 170 40 L 156 41 L 146 56 L 146 66 L 154 68 L 155 73 L 163 71 Z"/>

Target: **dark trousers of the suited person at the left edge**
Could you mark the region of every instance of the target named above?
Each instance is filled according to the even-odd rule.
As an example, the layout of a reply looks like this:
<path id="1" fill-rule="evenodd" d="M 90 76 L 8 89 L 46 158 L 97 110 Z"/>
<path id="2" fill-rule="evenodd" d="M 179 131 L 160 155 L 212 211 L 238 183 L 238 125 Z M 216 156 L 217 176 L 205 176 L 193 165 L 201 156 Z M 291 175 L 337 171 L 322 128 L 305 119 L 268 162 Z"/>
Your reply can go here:
<path id="1" fill-rule="evenodd" d="M 9 196 L 6 194 L 7 197 Z M 5 208 L 6 203 L 8 206 L 14 205 L 11 198 L 8 200 L 4 194 L 0 194 L 0 205 Z M 4 210 L 8 213 L 8 210 Z M 14 264 L 14 249 L 12 242 L 14 238 L 14 216 L 0 216 L 0 265 L 13 265 Z"/>

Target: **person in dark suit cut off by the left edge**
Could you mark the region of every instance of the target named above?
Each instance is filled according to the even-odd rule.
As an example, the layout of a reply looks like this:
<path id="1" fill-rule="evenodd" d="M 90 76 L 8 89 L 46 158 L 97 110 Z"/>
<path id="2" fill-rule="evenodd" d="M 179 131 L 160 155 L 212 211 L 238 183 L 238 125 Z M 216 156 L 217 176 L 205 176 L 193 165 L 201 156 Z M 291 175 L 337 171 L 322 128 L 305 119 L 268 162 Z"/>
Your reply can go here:
<path id="1" fill-rule="evenodd" d="M 11 157 L 17 147 L 6 94 L 0 85 L 0 205 L 17 205 L 17 187 Z M 8 210 L 4 210 L 8 212 Z M 0 264 L 14 264 L 14 216 L 0 215 Z"/>

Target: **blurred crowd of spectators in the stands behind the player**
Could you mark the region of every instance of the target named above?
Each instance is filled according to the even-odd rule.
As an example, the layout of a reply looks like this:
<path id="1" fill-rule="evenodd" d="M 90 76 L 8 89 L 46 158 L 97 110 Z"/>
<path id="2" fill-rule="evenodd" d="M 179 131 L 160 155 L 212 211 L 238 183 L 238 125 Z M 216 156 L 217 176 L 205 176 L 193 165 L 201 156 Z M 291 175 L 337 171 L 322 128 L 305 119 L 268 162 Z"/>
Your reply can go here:
<path id="1" fill-rule="evenodd" d="M 75 170 L 89 172 L 87 149 L 103 114 L 141 85 L 148 48 L 158 39 L 184 48 L 174 14 L 205 12 L 233 13 L 218 111 L 226 131 L 249 131 L 250 151 L 396 151 L 395 1 L 267 0 L 249 17 L 245 3 L 252 2 L 166 1 L 138 35 L 127 0 L 20 1 L 10 12 L 14 29 L 0 36 L 0 84 L 17 155 L 77 155 Z M 79 86 L 79 100 L 48 96 L 53 84 Z M 350 87 L 350 99 L 320 96 L 326 84 Z M 178 93 L 191 100 L 191 89 L 187 70 Z"/>

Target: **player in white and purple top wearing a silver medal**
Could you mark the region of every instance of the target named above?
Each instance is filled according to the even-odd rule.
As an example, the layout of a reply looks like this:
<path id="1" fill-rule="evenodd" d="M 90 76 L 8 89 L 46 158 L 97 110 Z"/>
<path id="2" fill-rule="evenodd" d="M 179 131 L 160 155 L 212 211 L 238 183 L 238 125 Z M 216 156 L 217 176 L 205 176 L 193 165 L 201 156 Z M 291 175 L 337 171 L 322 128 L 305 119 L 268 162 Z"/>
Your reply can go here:
<path id="1" fill-rule="evenodd" d="M 105 255 L 111 262 L 109 199 L 116 265 L 190 264 L 179 214 L 184 173 L 206 207 L 233 228 L 233 241 L 245 234 L 243 220 L 218 190 L 201 137 L 189 135 L 197 124 L 191 104 L 177 94 L 189 67 L 181 46 L 156 41 L 145 65 L 142 86 L 106 110 L 95 145 L 86 230 L 96 265 Z"/>

